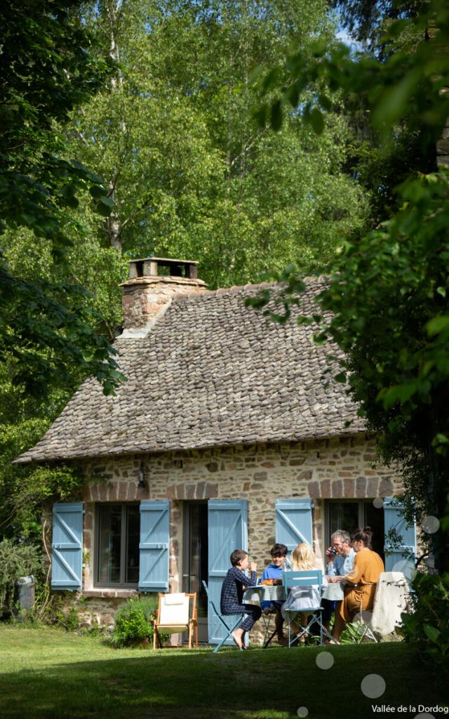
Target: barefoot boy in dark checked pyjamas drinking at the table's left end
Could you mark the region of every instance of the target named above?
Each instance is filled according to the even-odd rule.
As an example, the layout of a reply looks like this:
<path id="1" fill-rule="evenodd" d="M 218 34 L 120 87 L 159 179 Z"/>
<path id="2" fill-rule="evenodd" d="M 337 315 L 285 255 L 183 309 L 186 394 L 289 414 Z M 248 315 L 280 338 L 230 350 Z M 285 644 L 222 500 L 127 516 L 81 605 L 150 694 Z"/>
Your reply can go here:
<path id="1" fill-rule="evenodd" d="M 262 610 L 254 604 L 242 602 L 246 587 L 255 587 L 257 584 L 256 562 L 249 564 L 248 552 L 244 549 L 234 549 L 231 554 L 231 569 L 223 580 L 221 587 L 220 608 L 223 615 L 226 614 L 247 614 L 241 626 L 233 631 L 232 638 L 239 649 L 246 649 L 245 633 L 250 631 L 254 623 L 260 619 Z M 244 572 L 248 569 L 251 576 L 247 577 Z"/>

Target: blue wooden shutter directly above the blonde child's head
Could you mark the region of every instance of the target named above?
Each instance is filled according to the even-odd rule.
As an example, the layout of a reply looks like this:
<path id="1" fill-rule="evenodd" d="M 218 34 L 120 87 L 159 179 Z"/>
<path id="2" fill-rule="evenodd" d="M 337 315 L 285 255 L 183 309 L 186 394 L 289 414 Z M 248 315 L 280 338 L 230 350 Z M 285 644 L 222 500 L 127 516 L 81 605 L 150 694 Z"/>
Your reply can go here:
<path id="1" fill-rule="evenodd" d="M 287 544 L 289 553 L 303 541 L 313 546 L 312 500 L 278 499 L 275 510 L 276 541 Z"/>

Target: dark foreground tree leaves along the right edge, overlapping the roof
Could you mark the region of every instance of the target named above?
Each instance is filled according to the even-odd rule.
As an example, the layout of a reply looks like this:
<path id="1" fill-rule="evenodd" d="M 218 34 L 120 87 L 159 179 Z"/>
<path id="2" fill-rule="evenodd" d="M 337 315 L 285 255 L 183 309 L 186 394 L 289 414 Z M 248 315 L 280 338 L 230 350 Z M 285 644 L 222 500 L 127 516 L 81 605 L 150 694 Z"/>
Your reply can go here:
<path id="1" fill-rule="evenodd" d="M 381 132 L 392 132 L 408 114 L 420 126 L 424 149 L 432 150 L 449 115 L 447 7 L 432 0 L 417 17 L 390 24 L 388 38 L 405 31 L 422 39 L 415 52 L 398 51 L 385 62 L 353 60 L 344 47 L 330 53 L 317 47 L 312 61 L 302 53 L 289 58 L 285 84 L 274 106 L 262 107 L 261 118 L 269 112 L 279 117 L 284 106 L 297 106 L 303 88 L 320 77 L 331 88 L 364 89 Z M 265 89 L 276 82 L 268 77 Z M 325 93 L 303 103 L 303 119 L 320 132 L 328 106 Z M 407 518 L 421 520 L 425 531 L 426 516 L 436 516 L 449 528 L 444 518 L 449 490 L 448 189 L 443 168 L 429 175 L 410 172 L 396 190 L 399 210 L 359 242 L 343 240 L 337 271 L 316 298 L 316 316 L 302 318 L 318 323 L 317 342 L 331 338 L 343 349 L 343 372 L 335 380 L 348 380 L 369 429 L 380 436 L 381 458 L 402 465 Z M 282 279 L 288 316 L 290 303 L 300 303 L 304 283 L 289 270 Z M 256 305 L 266 301 L 260 298 Z M 326 321 L 322 312 L 332 313 L 332 319 Z M 448 536 L 429 532 L 437 567 L 447 571 Z"/>

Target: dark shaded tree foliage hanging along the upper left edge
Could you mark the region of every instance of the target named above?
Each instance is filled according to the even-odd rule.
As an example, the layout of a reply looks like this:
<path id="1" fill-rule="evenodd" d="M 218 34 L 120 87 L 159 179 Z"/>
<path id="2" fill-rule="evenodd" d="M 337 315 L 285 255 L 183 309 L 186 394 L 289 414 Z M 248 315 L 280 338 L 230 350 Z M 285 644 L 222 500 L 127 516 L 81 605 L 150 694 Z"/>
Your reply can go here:
<path id="1" fill-rule="evenodd" d="M 55 122 L 95 93 L 108 65 L 92 53 L 93 35 L 75 0 L 12 0 L 0 9 L 0 232 L 20 227 L 45 239 L 65 261 L 68 228 L 77 195 L 90 193 L 96 208 L 110 211 L 101 179 L 62 157 Z M 4 241 L 6 237 L 4 237 Z M 114 350 L 94 331 L 85 291 L 68 283 L 24 280 L 11 273 L 7 246 L 0 251 L 0 362 L 27 391 L 45 393 L 70 364 L 83 365 L 106 393 L 122 377 Z"/>

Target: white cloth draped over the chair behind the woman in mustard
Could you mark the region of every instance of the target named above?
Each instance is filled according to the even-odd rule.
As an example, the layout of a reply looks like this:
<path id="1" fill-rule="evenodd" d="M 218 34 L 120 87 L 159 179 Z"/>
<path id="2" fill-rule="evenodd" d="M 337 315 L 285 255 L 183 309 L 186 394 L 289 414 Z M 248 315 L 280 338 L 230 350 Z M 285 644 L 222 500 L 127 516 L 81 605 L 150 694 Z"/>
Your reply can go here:
<path id="1" fill-rule="evenodd" d="M 371 629 L 381 636 L 402 626 L 401 613 L 409 605 L 409 585 L 402 572 L 382 572 L 374 597 Z"/>

